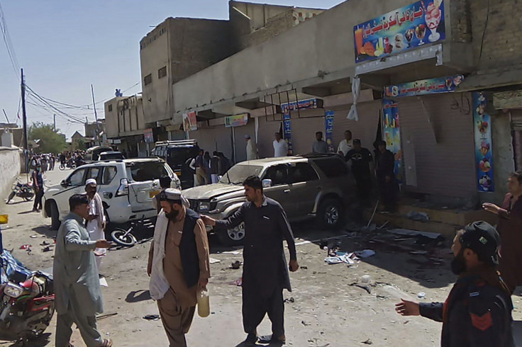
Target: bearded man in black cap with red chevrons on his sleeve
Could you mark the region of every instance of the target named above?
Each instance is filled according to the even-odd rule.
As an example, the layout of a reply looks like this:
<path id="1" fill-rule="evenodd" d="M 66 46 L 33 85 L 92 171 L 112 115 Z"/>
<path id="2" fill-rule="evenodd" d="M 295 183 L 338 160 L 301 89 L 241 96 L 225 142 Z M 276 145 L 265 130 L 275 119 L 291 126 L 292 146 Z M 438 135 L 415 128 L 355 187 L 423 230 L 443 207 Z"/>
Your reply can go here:
<path id="1" fill-rule="evenodd" d="M 443 347 L 515 346 L 511 295 L 496 271 L 499 246 L 499 233 L 487 222 L 467 225 L 457 232 L 451 247 L 455 255 L 451 270 L 459 278 L 448 299 L 421 304 L 402 299 L 396 312 L 443 322 Z"/>

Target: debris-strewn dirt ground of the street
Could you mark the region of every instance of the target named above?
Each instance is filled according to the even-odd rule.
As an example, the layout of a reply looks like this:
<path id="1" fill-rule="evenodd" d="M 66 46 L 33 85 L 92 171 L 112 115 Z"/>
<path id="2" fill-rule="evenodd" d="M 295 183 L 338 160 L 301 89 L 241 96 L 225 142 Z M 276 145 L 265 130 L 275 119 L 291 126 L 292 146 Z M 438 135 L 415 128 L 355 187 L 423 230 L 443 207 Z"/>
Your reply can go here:
<path id="1" fill-rule="evenodd" d="M 50 171 L 45 185 L 59 183 L 71 171 Z M 50 230 L 50 220 L 30 212 L 32 202 L 15 198 L 9 205 L 1 205 L 0 212 L 9 214 L 9 227 L 2 226 L 4 248 L 33 270 L 52 266 L 54 251 L 44 252 L 44 240 L 52 243 L 56 232 Z M 455 276 L 449 270 L 450 241 L 437 246 L 433 242 L 418 244 L 418 240 L 397 241 L 387 232 L 357 232 L 355 224 L 344 232 L 326 232 L 309 225 L 293 225 L 297 254 L 301 268 L 291 274 L 293 292 L 284 292 L 287 346 L 440 346 L 437 322 L 422 317 L 400 317 L 394 304 L 401 297 L 422 302 L 443 301 Z M 351 230 L 350 230 L 351 229 Z M 111 249 L 104 259 L 101 273 L 108 288 L 102 288 L 104 314 L 99 330 L 113 339 L 114 346 L 167 346 L 160 321 L 143 319 L 157 314 L 157 306 L 148 295 L 148 276 L 145 272 L 152 231 L 144 232 L 140 244 L 130 249 Z M 326 251 L 320 240 L 339 237 L 341 251 L 372 249 L 374 256 L 357 265 L 328 265 Z M 416 243 L 417 241 L 417 243 Z M 422 240 L 421 240 L 422 241 Z M 331 240 L 335 244 L 336 240 Z M 32 251 L 21 250 L 31 244 Z M 413 253 L 412 253 L 413 252 Z M 233 270 L 231 263 L 241 261 L 241 249 L 226 249 L 211 237 L 212 278 L 209 283 L 211 315 L 195 317 L 187 335 L 189 346 L 243 346 L 245 339 L 241 320 L 241 290 L 233 282 L 241 277 L 241 270 Z M 370 275 L 366 289 L 362 276 Z M 420 293 L 425 293 L 418 298 Z M 513 296 L 513 331 L 522 334 L 522 297 L 520 290 Z M 113 314 L 113 315 L 111 315 Z M 54 346 L 55 318 L 47 334 L 31 346 Z M 270 334 L 268 319 L 260 326 L 260 334 Z M 517 336 L 522 346 L 522 336 Z M 74 346 L 84 346 L 77 330 Z M 0 346 L 12 346 L 1 343 Z"/>

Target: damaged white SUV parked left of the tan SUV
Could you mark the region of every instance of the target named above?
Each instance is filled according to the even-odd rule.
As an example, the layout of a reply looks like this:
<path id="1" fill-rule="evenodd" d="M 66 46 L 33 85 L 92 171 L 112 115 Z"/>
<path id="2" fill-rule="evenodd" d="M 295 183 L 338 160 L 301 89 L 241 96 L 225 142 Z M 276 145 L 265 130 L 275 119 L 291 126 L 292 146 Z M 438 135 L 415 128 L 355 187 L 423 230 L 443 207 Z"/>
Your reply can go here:
<path id="1" fill-rule="evenodd" d="M 160 192 L 159 178 L 170 176 L 172 188 L 181 182 L 162 159 L 126 159 L 97 161 L 75 169 L 60 185 L 48 188 L 43 196 L 43 215 L 58 229 L 69 214 L 69 198 L 85 192 L 85 181 L 94 178 L 109 223 L 123 224 L 157 215 L 152 197 Z"/>

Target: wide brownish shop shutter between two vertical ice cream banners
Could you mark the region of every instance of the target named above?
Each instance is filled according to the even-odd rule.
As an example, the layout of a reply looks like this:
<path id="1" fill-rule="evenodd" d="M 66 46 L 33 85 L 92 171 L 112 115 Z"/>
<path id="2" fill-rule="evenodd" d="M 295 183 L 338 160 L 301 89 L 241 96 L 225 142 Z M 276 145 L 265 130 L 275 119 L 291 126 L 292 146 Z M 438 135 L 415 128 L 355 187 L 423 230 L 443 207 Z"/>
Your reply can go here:
<path id="1" fill-rule="evenodd" d="M 432 124 L 417 97 L 397 98 L 404 167 L 415 166 L 418 193 L 470 198 L 476 193 L 473 115 L 470 93 L 422 96 L 424 106 L 438 134 L 435 142 Z M 409 143 L 407 143 L 409 140 Z M 413 164 L 412 164 L 413 163 Z"/>

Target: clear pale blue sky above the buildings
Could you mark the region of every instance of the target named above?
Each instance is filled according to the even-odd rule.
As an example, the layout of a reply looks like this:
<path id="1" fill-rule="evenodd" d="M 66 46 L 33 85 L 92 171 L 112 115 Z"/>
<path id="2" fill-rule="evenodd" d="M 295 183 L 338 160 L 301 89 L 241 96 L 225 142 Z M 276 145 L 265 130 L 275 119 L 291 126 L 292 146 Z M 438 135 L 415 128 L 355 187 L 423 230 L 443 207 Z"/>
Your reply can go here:
<path id="1" fill-rule="evenodd" d="M 249 2 L 331 8 L 343 0 Z M 54 113 L 67 139 L 77 130 L 84 134 L 79 120 L 95 119 L 91 84 L 98 118 L 104 118 L 102 101 L 112 98 L 116 88 L 125 95 L 141 91 L 139 42 L 152 26 L 168 17 L 228 19 L 228 0 L 0 0 L 0 5 L 18 62 L 13 67 L 0 38 L 0 108 L 11 123 L 17 121 L 22 67 L 36 94 L 27 97 L 28 125 L 52 124 Z M 38 96 L 69 106 L 52 110 Z M 6 122 L 0 116 L 0 123 Z"/>

